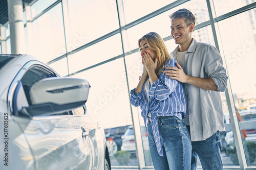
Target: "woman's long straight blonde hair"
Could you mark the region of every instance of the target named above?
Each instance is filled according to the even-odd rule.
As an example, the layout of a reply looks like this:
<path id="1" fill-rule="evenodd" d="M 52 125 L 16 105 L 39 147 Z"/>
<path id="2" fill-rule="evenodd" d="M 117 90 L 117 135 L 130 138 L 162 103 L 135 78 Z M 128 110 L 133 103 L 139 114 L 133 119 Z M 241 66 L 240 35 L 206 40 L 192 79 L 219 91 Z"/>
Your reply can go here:
<path id="1" fill-rule="evenodd" d="M 156 71 L 157 77 L 159 77 L 164 68 L 164 65 L 170 59 L 169 53 L 164 44 L 164 40 L 162 39 L 162 37 L 160 37 L 159 34 L 155 32 L 150 32 L 148 34 L 145 34 L 143 37 L 141 37 L 138 40 L 139 46 L 142 40 L 146 40 L 147 46 L 156 52 L 156 58 L 158 57 L 158 62 L 157 62 L 157 68 L 155 71 Z"/>

